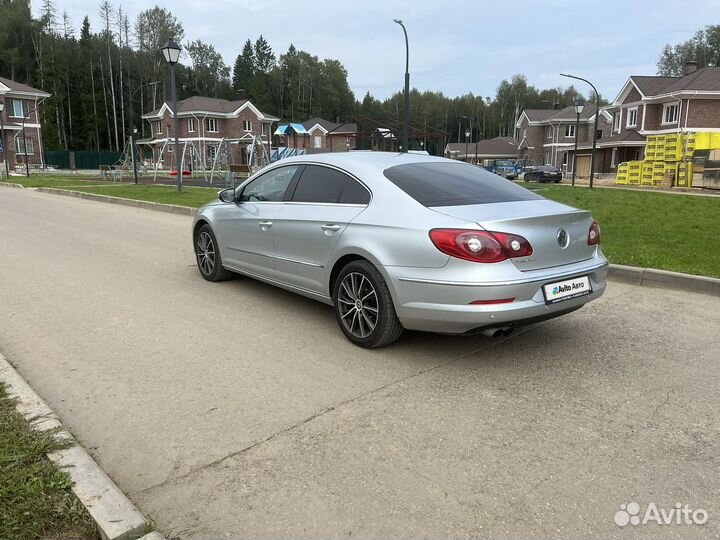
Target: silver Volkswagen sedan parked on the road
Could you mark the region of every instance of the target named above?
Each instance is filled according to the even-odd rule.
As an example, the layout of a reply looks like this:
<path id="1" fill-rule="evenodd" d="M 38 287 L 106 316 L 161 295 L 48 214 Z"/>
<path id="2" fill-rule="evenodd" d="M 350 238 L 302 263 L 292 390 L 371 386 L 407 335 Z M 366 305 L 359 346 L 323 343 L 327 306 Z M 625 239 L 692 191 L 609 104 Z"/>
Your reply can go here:
<path id="1" fill-rule="evenodd" d="M 600 297 L 589 212 L 444 158 L 339 152 L 284 159 L 202 207 L 209 281 L 244 274 L 335 308 L 347 338 L 507 334 Z"/>

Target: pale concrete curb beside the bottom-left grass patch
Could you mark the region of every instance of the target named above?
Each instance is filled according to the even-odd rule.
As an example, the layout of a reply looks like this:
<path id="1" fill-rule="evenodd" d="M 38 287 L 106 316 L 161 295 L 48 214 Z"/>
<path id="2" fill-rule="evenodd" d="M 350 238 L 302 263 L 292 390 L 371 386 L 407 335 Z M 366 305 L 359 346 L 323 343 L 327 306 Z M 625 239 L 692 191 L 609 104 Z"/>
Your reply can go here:
<path id="1" fill-rule="evenodd" d="M 55 437 L 72 440 L 60 419 L 0 354 L 0 381 L 17 400 L 16 409 L 35 431 L 58 429 Z M 104 540 L 165 540 L 160 533 L 146 534 L 149 522 L 80 445 L 50 452 L 48 458 L 70 475 L 73 491 L 95 521 Z M 143 536 L 145 535 L 145 536 Z"/>

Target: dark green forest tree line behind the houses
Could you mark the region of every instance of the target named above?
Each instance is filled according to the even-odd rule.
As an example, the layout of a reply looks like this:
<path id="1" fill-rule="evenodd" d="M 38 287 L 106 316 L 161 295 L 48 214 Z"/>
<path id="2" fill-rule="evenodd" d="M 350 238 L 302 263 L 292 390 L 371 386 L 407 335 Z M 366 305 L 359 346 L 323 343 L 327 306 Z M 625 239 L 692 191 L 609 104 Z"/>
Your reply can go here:
<path id="1" fill-rule="evenodd" d="M 42 0 L 37 18 L 29 0 L 0 0 L 0 76 L 51 94 L 41 108 L 48 150 L 122 151 L 133 128 L 138 137 L 149 136 L 140 116 L 169 96 L 160 53 L 169 38 L 183 46 L 176 70 L 178 99 L 248 98 L 282 121 L 319 116 L 356 121 L 364 132 L 402 122 L 401 91 L 385 100 L 370 93 L 356 99 L 337 59 L 321 60 L 293 45 L 276 55 L 260 35 L 244 42 L 231 69 L 212 44 L 186 41 L 182 22 L 166 8 L 155 6 L 131 17 L 120 3 L 102 0 L 98 14 L 99 27 L 91 27 L 86 16 L 76 30 L 53 0 Z M 449 97 L 413 89 L 411 116 L 416 129 L 445 134 L 427 141 L 427 149 L 439 153 L 446 142 L 464 142 L 466 130 L 471 141 L 513 136 L 525 108 L 561 108 L 587 100 L 591 96 L 573 86 L 538 89 L 518 74 L 502 81 L 494 96 Z"/>

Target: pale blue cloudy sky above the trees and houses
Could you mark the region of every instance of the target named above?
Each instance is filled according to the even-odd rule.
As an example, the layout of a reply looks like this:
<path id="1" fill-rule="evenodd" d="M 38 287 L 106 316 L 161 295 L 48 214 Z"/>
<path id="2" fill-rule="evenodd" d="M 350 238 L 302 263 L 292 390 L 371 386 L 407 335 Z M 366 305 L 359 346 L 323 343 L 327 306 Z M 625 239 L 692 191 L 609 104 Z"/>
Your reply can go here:
<path id="1" fill-rule="evenodd" d="M 76 32 L 90 17 L 100 29 L 99 0 L 54 0 Z M 410 84 L 454 97 L 494 97 L 503 79 L 523 73 L 538 89 L 566 87 L 560 73 L 591 80 L 613 100 L 630 75 L 654 75 L 666 43 L 720 24 L 720 0 L 115 0 L 131 21 L 157 4 L 183 24 L 185 39 L 211 43 L 232 67 L 246 39 L 262 34 L 276 56 L 296 48 L 336 58 L 356 98 L 385 99 L 404 85 L 404 22 Z M 40 1 L 33 0 L 37 14 Z M 578 83 L 576 87 L 587 95 Z M 589 89 L 589 87 L 588 87 Z"/>

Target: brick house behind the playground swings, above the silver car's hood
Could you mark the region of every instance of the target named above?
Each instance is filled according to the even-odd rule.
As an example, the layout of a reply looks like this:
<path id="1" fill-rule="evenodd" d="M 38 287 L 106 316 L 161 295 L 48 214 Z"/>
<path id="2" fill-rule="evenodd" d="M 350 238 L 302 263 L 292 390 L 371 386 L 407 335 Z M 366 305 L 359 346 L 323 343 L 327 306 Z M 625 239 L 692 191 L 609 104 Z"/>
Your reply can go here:
<path id="1" fill-rule="evenodd" d="M 179 142 L 185 151 L 188 163 L 190 156 L 196 167 L 212 167 L 221 144 L 228 143 L 229 162 L 247 164 L 246 149 L 253 141 L 261 141 L 270 153 L 272 124 L 278 118 L 261 112 L 249 100 L 228 101 L 226 99 L 193 96 L 178 101 Z M 141 139 L 138 144 L 152 151 L 152 162 L 174 164 L 173 111 L 168 103 L 142 118 L 150 124 L 150 138 Z M 187 166 L 187 165 L 185 165 Z"/>

